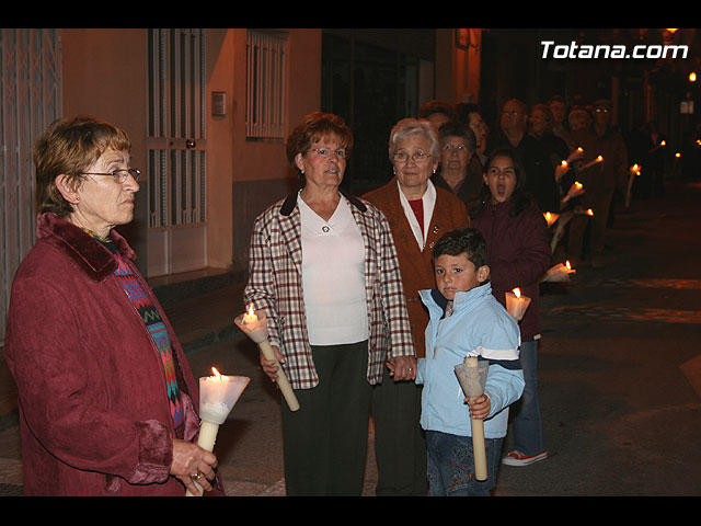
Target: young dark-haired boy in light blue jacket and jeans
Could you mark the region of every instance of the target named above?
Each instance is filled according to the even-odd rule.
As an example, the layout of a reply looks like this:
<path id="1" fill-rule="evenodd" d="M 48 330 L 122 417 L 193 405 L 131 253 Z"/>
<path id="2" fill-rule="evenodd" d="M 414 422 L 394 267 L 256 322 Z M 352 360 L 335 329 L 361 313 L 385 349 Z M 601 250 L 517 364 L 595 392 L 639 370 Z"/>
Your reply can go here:
<path id="1" fill-rule="evenodd" d="M 492 295 L 486 243 L 472 228 L 446 233 L 433 252 L 436 287 L 421 290 L 430 320 L 426 357 L 418 361 L 423 384 L 421 425 L 426 431 L 429 495 L 487 496 L 506 436 L 508 405 L 524 392 L 517 322 Z M 466 356 L 490 363 L 484 395 L 468 400 L 455 373 Z M 468 404 L 469 402 L 469 404 Z M 470 416 L 484 419 L 487 473 L 474 478 Z"/>

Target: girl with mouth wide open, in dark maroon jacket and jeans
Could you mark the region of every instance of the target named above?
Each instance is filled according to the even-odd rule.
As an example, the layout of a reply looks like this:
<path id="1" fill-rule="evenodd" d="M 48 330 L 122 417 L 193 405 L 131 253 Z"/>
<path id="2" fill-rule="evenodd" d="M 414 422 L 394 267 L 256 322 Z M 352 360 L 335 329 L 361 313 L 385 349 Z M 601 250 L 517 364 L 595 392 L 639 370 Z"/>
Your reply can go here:
<path id="1" fill-rule="evenodd" d="M 520 321 L 520 362 L 526 388 L 515 407 L 515 449 L 504 464 L 526 466 L 548 456 L 538 397 L 538 340 L 540 339 L 540 278 L 551 264 L 548 224 L 538 205 L 521 190 L 525 174 L 509 148 L 492 152 L 485 164 L 481 203 L 473 209 L 472 226 L 487 244 L 492 293 L 506 306 L 505 293 L 518 287 L 530 298 Z"/>

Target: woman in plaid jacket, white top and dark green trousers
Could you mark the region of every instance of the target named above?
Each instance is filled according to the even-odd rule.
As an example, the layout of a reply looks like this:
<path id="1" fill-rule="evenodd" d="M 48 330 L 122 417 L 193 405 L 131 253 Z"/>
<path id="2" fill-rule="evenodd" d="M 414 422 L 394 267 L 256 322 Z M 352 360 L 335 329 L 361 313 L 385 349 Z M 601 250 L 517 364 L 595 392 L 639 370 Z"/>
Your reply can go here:
<path id="1" fill-rule="evenodd" d="M 266 312 L 300 402 L 283 404 L 288 495 L 359 495 L 371 386 L 388 362 L 395 379 L 415 376 L 389 224 L 340 188 L 352 146 L 342 118 L 306 116 L 287 141 L 303 186 L 258 216 L 251 238 L 244 301 Z M 275 380 L 274 363 L 261 364 Z"/>

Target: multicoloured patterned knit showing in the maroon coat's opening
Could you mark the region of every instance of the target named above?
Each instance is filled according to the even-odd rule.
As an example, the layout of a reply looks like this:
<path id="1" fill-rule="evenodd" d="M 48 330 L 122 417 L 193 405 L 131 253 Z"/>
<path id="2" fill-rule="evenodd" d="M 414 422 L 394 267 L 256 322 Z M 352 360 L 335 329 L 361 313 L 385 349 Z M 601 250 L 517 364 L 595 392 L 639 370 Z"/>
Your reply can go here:
<path id="1" fill-rule="evenodd" d="M 117 281 L 127 294 L 127 297 L 134 304 L 134 307 L 138 311 L 143 324 L 156 344 L 156 348 L 159 352 L 159 357 L 163 364 L 163 370 L 165 374 L 165 387 L 166 396 L 170 403 L 171 418 L 173 419 L 173 427 L 175 430 L 175 436 L 183 438 L 184 435 L 184 421 L 185 414 L 183 403 L 181 400 L 180 388 L 177 387 L 177 377 L 175 371 L 175 361 L 173 357 L 173 347 L 171 340 L 168 335 L 168 329 L 161 318 L 158 309 L 149 298 L 137 276 L 131 272 L 126 261 L 122 259 L 119 253 L 114 247 L 114 242 L 111 239 L 102 239 L 95 236 L 93 232 L 88 231 L 93 238 L 97 239 L 107 250 L 116 255 L 118 266 L 114 272 Z"/>

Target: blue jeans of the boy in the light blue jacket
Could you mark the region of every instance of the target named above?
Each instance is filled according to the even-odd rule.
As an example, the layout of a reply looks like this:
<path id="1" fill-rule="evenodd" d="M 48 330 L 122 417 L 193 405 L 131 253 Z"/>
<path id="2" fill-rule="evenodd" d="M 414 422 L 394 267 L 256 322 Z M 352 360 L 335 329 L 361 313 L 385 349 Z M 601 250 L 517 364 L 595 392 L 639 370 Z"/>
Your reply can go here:
<path id="1" fill-rule="evenodd" d="M 496 485 L 503 438 L 485 438 L 487 479 L 474 478 L 472 437 L 426 432 L 429 496 L 490 496 Z"/>

